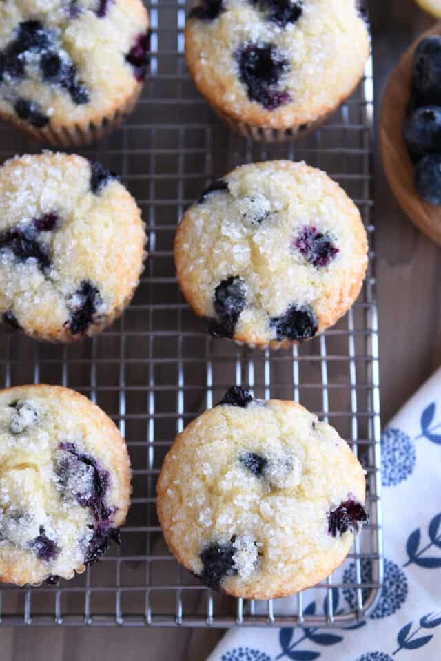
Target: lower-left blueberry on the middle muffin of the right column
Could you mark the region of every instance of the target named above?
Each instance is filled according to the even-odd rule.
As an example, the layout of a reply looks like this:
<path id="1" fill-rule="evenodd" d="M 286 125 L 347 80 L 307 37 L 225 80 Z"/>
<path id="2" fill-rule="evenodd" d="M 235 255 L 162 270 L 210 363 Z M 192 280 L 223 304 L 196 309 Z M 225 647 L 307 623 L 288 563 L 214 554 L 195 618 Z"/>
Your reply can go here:
<path id="1" fill-rule="evenodd" d="M 240 313 L 245 308 L 245 282 L 241 277 L 229 277 L 214 290 L 217 319 L 207 319 L 209 333 L 214 337 L 233 337 Z"/>

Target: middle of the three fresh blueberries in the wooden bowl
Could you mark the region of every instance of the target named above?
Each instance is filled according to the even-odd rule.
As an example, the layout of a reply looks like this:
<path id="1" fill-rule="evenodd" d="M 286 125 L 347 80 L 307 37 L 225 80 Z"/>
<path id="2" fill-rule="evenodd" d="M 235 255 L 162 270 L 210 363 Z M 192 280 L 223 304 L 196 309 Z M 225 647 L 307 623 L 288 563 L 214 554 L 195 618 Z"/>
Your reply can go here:
<path id="1" fill-rule="evenodd" d="M 414 110 L 404 123 L 404 141 L 414 154 L 441 151 L 441 107 Z"/>

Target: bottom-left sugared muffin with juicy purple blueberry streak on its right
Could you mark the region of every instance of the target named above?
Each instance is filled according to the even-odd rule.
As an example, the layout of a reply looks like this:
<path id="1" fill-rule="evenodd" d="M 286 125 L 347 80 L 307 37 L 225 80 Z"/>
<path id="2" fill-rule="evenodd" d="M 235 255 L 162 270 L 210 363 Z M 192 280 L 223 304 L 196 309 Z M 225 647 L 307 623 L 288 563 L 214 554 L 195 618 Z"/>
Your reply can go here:
<path id="1" fill-rule="evenodd" d="M 59 386 L 0 392 L 0 580 L 72 578 L 119 541 L 130 461 L 114 423 Z"/>

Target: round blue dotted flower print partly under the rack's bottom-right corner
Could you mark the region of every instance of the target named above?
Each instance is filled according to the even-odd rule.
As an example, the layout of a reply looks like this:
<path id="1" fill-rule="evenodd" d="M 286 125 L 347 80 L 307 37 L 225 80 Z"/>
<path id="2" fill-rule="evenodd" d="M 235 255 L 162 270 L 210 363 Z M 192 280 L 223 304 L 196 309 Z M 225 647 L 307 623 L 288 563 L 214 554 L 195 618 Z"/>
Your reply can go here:
<path id="1" fill-rule="evenodd" d="M 369 558 L 361 560 L 362 583 L 372 581 L 372 561 Z M 354 563 L 343 574 L 343 583 L 356 583 L 356 566 Z M 407 578 L 404 571 L 392 560 L 384 559 L 384 583 L 380 594 L 380 600 L 371 613 L 371 618 L 387 618 L 402 607 L 407 598 Z M 343 596 L 351 609 L 357 607 L 357 593 L 352 588 L 343 589 Z M 370 589 L 362 589 L 363 601 L 369 597 Z"/>

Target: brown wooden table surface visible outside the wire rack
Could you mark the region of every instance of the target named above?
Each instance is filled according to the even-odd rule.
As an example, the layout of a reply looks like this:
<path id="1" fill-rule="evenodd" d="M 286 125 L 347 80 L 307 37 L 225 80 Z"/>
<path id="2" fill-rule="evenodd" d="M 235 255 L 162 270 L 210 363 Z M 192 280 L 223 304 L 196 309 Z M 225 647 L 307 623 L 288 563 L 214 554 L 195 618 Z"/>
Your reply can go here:
<path id="1" fill-rule="evenodd" d="M 413 0 L 371 0 L 377 120 L 387 76 L 431 19 Z M 376 249 L 382 419 L 441 363 L 441 250 L 405 218 L 376 149 Z M 202 661 L 223 631 L 0 629 L 0 661 Z"/>

